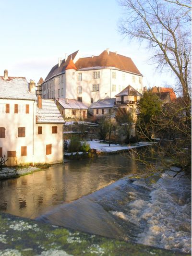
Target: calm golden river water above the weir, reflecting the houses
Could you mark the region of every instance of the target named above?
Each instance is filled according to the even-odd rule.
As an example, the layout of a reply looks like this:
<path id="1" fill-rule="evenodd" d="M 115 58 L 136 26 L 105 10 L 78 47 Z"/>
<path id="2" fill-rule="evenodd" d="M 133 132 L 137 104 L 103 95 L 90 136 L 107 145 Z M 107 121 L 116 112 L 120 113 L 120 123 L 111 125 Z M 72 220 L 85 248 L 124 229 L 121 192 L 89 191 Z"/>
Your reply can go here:
<path id="1" fill-rule="evenodd" d="M 53 165 L 46 171 L 0 181 L 0 210 L 34 219 L 56 205 L 88 195 L 136 169 L 132 159 L 120 155 Z"/>

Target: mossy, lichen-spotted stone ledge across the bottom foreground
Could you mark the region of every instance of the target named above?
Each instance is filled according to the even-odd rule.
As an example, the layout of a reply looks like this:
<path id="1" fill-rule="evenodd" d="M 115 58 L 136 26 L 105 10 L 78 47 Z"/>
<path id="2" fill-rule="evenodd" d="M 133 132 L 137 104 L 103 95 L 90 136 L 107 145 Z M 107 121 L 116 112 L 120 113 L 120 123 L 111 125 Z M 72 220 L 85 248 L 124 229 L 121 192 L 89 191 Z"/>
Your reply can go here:
<path id="1" fill-rule="evenodd" d="M 127 243 L 0 213 L 0 256 L 36 255 L 181 256 L 187 254 Z"/>

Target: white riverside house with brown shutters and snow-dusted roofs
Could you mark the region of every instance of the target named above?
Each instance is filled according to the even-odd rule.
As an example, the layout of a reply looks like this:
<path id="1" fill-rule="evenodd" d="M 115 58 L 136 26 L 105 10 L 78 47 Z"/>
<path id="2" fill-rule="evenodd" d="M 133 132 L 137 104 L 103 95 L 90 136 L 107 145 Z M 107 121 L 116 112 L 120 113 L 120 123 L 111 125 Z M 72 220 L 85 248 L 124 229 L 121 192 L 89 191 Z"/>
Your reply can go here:
<path id="1" fill-rule="evenodd" d="M 64 120 L 53 99 L 36 99 L 25 77 L 0 76 L 0 158 L 7 165 L 63 161 Z"/>

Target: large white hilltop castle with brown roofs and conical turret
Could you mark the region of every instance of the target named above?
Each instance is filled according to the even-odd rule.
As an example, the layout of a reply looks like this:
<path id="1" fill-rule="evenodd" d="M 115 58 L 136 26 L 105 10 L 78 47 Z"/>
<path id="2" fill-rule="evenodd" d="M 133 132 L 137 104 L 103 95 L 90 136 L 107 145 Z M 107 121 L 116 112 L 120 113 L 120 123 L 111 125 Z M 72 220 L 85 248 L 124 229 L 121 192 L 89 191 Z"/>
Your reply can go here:
<path id="1" fill-rule="evenodd" d="M 98 99 L 114 98 L 128 85 L 143 93 L 143 75 L 131 58 L 104 50 L 79 58 L 79 51 L 59 58 L 42 83 L 42 98 L 71 98 L 90 106 Z"/>

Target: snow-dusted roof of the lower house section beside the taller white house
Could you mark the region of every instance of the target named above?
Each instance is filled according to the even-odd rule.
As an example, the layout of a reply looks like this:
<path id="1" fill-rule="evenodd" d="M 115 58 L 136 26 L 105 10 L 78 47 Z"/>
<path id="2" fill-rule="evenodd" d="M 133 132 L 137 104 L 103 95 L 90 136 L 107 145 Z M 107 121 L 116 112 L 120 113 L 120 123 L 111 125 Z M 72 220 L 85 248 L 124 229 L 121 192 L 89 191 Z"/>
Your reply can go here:
<path id="1" fill-rule="evenodd" d="M 42 99 L 42 108 L 36 100 L 36 123 L 65 123 L 53 99 Z"/>

